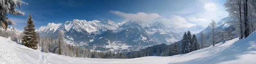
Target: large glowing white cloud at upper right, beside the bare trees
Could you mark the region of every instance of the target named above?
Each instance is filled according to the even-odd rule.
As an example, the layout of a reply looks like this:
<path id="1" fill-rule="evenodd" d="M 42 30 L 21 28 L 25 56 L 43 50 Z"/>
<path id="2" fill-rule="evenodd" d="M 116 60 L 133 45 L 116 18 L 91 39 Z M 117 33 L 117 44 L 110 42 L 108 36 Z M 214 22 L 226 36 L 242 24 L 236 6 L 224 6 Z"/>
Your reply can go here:
<path id="1" fill-rule="evenodd" d="M 200 26 L 206 27 L 208 26 L 209 22 L 211 22 L 211 19 L 219 22 L 222 18 L 228 16 L 227 11 L 225 11 L 222 4 L 207 1 L 203 2 L 203 11 L 186 16 L 186 18 L 188 18 L 189 22 L 192 24 L 198 24 Z"/>

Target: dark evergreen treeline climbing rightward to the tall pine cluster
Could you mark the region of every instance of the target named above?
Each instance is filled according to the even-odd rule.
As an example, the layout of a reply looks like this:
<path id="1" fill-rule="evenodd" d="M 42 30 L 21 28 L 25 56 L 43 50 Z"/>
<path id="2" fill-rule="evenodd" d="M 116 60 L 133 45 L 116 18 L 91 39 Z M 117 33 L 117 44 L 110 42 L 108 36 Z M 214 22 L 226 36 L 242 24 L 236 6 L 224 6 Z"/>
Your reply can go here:
<path id="1" fill-rule="evenodd" d="M 201 49 L 200 44 L 195 36 L 191 35 L 190 31 L 185 32 L 181 41 L 170 45 L 158 44 L 149 46 L 139 51 L 127 53 L 128 58 L 146 57 L 146 56 L 172 56 L 178 54 L 189 53 Z"/>

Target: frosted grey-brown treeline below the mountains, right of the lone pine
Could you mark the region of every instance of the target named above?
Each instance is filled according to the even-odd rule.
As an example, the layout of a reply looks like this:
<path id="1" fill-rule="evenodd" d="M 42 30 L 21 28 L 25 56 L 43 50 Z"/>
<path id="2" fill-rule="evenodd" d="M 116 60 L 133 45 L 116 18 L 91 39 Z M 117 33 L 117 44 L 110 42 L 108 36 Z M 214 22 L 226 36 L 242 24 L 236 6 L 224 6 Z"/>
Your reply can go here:
<path id="1" fill-rule="evenodd" d="M 88 57 L 88 58 L 127 58 L 124 53 L 114 53 L 112 51 L 92 51 L 85 47 L 73 46 L 67 43 L 61 43 L 52 38 L 40 38 L 39 49 L 45 53 L 55 53 L 70 57 Z"/>

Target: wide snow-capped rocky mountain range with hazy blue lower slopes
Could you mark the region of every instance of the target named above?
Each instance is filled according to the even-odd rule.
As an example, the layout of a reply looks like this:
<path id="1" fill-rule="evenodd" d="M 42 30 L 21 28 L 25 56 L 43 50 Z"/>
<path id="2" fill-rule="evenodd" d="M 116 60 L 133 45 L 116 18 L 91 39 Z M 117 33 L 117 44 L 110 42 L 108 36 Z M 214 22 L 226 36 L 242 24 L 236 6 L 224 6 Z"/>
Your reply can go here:
<path id="1" fill-rule="evenodd" d="M 41 36 L 56 39 L 58 31 L 64 31 L 70 44 L 95 50 L 119 50 L 146 47 L 155 44 L 171 44 L 181 39 L 160 22 L 141 23 L 130 20 L 115 23 L 111 20 L 73 20 L 64 24 L 49 23 L 38 30 Z M 115 46 L 115 47 L 113 47 Z"/>

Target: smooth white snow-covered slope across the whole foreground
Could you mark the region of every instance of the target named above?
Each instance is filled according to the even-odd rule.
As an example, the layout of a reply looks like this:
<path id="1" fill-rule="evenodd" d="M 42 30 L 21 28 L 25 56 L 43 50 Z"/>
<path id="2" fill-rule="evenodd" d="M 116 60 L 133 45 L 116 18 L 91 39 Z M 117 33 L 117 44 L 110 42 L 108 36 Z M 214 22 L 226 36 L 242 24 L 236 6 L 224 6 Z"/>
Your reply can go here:
<path id="1" fill-rule="evenodd" d="M 0 64 L 256 64 L 256 33 L 191 53 L 134 59 L 76 58 L 42 53 L 0 37 Z"/>

